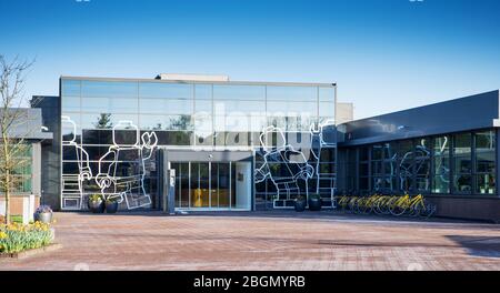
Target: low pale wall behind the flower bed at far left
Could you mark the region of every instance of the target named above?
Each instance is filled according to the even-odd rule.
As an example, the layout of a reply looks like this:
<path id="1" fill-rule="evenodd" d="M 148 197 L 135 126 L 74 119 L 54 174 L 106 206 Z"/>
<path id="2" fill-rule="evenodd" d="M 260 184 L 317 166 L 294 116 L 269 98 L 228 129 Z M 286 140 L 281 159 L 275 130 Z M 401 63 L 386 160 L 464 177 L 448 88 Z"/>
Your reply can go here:
<path id="1" fill-rule="evenodd" d="M 10 196 L 10 214 L 22 215 L 22 221 L 28 224 L 33 221 L 33 213 L 40 206 L 39 195 L 11 195 Z M 6 198 L 0 195 L 0 214 L 6 214 Z"/>

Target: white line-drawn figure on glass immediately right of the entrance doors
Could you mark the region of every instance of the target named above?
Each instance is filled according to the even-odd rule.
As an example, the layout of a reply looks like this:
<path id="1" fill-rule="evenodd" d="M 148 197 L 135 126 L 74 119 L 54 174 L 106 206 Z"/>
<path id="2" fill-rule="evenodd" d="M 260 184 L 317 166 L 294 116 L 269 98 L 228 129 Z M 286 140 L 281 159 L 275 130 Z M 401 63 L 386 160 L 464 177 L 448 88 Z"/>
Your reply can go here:
<path id="1" fill-rule="evenodd" d="M 272 137 L 277 135 L 277 143 L 272 143 Z M 269 138 L 271 142 L 269 143 Z M 278 141 L 279 140 L 279 141 Z M 306 183 L 306 198 L 309 196 L 308 180 L 312 178 L 314 168 L 308 163 L 301 151 L 296 151 L 292 145 L 287 144 L 283 131 L 276 127 L 266 128 L 260 134 L 260 143 L 263 151 L 264 164 L 254 171 L 256 183 L 270 179 L 277 189 L 277 199 L 273 200 L 274 209 L 277 201 L 291 200 L 292 194 L 300 194 L 299 180 Z"/>

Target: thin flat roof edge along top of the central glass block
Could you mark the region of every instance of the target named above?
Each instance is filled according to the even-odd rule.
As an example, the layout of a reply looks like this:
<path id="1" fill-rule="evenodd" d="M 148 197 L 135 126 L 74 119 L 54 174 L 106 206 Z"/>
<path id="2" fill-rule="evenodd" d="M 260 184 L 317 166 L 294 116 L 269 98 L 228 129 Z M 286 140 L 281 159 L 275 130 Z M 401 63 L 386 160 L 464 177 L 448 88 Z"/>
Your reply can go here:
<path id="1" fill-rule="evenodd" d="M 61 75 L 61 80 L 89 80 L 89 81 L 134 81 L 134 82 L 158 82 L 158 83 L 213 83 L 213 84 L 240 84 L 240 85 L 282 85 L 282 87 L 337 87 L 337 83 L 318 82 L 267 82 L 267 81 L 199 81 L 199 80 L 158 80 L 158 79 L 133 79 L 133 78 L 99 78 L 99 77 L 71 77 Z"/>

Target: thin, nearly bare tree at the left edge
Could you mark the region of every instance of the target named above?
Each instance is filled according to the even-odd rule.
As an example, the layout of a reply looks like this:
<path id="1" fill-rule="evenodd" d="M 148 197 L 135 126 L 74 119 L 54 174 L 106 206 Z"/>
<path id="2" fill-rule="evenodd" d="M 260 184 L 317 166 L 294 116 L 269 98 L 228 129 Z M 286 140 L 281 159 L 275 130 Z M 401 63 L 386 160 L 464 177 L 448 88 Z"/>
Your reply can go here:
<path id="1" fill-rule="evenodd" d="M 8 62 L 0 54 L 0 194 L 4 195 L 6 224 L 10 223 L 10 198 L 22 184 L 20 170 L 31 160 L 26 138 L 33 131 L 29 125 L 23 94 L 27 70 L 33 62 L 18 58 Z"/>

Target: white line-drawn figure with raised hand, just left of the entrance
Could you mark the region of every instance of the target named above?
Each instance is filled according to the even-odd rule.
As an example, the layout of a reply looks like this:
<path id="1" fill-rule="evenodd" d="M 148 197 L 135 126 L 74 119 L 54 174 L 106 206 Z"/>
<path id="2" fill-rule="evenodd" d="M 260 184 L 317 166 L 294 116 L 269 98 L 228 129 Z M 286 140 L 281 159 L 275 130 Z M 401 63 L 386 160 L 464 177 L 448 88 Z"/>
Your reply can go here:
<path id="1" fill-rule="evenodd" d="M 117 131 L 122 128 L 134 131 L 132 143 L 117 141 Z M 113 145 L 99 159 L 99 173 L 96 182 L 104 199 L 118 199 L 134 210 L 151 204 L 151 198 L 144 189 L 146 163 L 151 159 L 158 143 L 154 132 L 140 135 L 139 128 L 132 121 L 119 121 L 112 129 Z"/>

